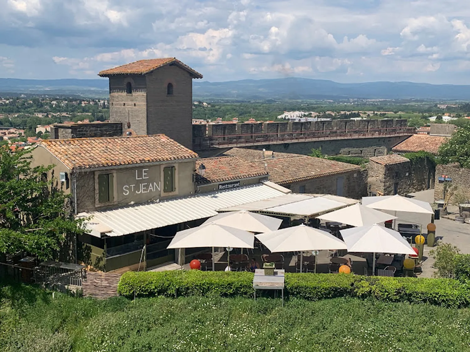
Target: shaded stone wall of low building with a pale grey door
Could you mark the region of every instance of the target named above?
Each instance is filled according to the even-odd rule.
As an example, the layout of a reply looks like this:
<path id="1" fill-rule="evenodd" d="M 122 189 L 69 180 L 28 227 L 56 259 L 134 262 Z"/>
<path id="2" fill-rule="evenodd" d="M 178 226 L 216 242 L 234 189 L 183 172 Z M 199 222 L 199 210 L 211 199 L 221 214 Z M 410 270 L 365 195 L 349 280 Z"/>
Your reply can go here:
<path id="1" fill-rule="evenodd" d="M 343 197 L 360 199 L 367 196 L 367 170 L 349 171 L 343 174 L 317 177 L 312 180 L 281 184 L 293 193 L 299 193 L 305 187 L 305 193 L 338 194 L 338 177 L 343 177 Z"/>

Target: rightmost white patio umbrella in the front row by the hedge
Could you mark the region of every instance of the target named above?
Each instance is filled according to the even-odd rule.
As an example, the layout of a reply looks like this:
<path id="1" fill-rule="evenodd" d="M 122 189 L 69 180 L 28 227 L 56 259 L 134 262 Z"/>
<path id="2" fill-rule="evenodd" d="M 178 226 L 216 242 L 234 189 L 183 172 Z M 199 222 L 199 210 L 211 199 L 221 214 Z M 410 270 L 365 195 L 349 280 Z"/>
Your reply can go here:
<path id="1" fill-rule="evenodd" d="M 374 253 L 372 272 L 376 271 L 376 253 L 412 254 L 415 251 L 400 233 L 379 225 L 340 230 L 348 252 Z"/>

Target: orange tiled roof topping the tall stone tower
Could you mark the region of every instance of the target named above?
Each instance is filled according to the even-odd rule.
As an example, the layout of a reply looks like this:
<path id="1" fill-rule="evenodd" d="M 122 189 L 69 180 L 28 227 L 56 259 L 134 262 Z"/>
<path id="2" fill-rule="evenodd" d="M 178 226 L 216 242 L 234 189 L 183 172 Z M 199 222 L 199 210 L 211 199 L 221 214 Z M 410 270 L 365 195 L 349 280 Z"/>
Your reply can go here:
<path id="1" fill-rule="evenodd" d="M 162 66 L 175 64 L 179 66 L 181 69 L 184 69 L 191 73 L 195 78 L 202 78 L 199 72 L 191 69 L 188 65 L 185 65 L 180 60 L 177 60 L 174 57 L 167 57 L 164 59 L 150 59 L 150 60 L 139 60 L 131 63 L 127 63 L 122 66 L 118 66 L 112 69 L 105 69 L 101 71 L 98 76 L 101 77 L 109 77 L 113 75 L 145 75 L 155 69 L 158 69 Z"/>

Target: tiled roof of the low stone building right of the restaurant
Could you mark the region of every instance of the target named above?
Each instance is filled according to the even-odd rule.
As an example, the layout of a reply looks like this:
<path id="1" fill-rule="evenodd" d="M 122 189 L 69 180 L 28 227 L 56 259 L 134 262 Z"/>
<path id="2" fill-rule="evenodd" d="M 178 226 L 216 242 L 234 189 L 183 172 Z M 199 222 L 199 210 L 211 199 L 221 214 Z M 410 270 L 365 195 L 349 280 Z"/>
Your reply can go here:
<path id="1" fill-rule="evenodd" d="M 291 156 L 258 161 L 259 165 L 267 164 L 269 180 L 276 184 L 288 184 L 310 180 L 317 177 L 342 174 L 360 170 L 360 166 L 344 162 L 313 158 L 307 155 Z"/>

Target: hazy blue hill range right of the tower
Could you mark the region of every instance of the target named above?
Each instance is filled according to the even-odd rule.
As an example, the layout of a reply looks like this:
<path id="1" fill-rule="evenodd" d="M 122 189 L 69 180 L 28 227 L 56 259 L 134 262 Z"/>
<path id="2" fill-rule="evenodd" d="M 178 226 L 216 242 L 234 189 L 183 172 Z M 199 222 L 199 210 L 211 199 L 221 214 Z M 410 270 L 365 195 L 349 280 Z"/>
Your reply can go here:
<path id="1" fill-rule="evenodd" d="M 411 82 L 337 83 L 308 78 L 193 81 L 195 98 L 232 99 L 456 99 L 470 100 L 470 85 Z"/>

